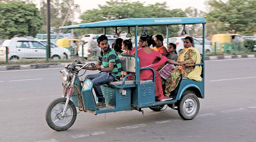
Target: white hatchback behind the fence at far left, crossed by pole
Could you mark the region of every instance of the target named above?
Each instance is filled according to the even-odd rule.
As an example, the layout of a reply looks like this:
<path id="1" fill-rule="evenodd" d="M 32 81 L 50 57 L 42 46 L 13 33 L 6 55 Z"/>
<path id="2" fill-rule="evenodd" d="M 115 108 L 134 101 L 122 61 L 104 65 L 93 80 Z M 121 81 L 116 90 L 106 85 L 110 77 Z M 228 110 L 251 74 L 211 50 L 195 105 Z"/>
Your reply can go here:
<path id="1" fill-rule="evenodd" d="M 11 61 L 46 58 L 46 46 L 37 40 L 28 40 L 27 38 L 5 40 L 0 47 L 0 60 L 6 60 L 6 47 L 8 47 L 7 59 Z M 65 59 L 70 57 L 70 52 L 62 47 L 51 47 L 50 56 L 52 59 Z"/>

